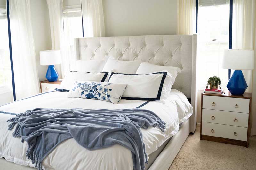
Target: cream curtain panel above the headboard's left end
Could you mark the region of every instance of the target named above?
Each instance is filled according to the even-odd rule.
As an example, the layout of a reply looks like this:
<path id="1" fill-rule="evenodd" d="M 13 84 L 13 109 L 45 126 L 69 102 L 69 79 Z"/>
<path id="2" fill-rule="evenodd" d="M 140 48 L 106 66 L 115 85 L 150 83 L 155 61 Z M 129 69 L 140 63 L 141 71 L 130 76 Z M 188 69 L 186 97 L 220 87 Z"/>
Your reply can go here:
<path id="1" fill-rule="evenodd" d="M 84 37 L 104 37 L 102 0 L 81 0 Z"/>

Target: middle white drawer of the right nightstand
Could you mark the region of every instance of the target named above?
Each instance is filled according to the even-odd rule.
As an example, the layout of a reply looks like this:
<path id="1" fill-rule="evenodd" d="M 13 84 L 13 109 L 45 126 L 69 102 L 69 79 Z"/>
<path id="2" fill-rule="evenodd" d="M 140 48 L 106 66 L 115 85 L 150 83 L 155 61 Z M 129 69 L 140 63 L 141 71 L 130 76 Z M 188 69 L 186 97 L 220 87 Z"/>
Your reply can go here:
<path id="1" fill-rule="evenodd" d="M 202 110 L 202 122 L 218 123 L 232 126 L 248 127 L 248 113 L 229 112 L 221 110 Z"/>

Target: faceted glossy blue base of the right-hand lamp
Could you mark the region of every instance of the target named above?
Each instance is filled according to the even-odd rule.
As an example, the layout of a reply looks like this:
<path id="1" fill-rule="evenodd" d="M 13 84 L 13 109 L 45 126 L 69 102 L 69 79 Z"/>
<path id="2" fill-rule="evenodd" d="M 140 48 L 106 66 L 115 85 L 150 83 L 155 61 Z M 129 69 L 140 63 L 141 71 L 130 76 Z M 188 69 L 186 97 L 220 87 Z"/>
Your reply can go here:
<path id="1" fill-rule="evenodd" d="M 235 70 L 227 84 L 229 92 L 233 95 L 242 95 L 247 87 L 243 72 L 241 70 Z"/>

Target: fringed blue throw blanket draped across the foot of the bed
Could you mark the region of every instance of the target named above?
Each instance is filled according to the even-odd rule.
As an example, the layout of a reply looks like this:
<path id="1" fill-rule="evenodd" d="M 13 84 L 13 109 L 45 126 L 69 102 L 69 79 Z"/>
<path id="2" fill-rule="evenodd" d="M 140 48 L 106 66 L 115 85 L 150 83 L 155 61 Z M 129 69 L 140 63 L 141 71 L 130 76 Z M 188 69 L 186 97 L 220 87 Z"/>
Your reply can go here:
<path id="1" fill-rule="evenodd" d="M 144 169 L 148 162 L 141 129 L 165 122 L 155 113 L 143 109 L 88 110 L 88 109 L 34 109 L 9 119 L 13 137 L 28 143 L 26 156 L 41 170 L 43 159 L 69 138 L 88 150 L 121 144 L 131 150 L 134 169 Z"/>

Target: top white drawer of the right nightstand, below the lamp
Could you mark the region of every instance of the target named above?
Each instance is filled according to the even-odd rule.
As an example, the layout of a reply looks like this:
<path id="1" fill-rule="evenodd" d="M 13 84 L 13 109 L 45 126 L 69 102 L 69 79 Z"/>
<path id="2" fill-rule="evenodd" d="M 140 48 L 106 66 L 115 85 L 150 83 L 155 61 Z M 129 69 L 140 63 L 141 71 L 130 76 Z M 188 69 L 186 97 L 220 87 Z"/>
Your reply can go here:
<path id="1" fill-rule="evenodd" d="M 249 103 L 250 99 L 206 95 L 203 96 L 204 109 L 249 113 Z"/>

